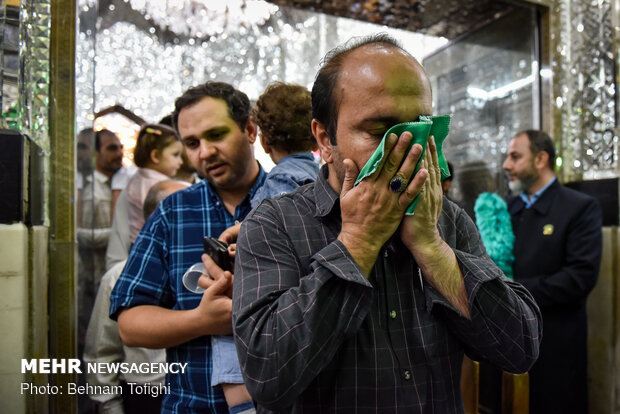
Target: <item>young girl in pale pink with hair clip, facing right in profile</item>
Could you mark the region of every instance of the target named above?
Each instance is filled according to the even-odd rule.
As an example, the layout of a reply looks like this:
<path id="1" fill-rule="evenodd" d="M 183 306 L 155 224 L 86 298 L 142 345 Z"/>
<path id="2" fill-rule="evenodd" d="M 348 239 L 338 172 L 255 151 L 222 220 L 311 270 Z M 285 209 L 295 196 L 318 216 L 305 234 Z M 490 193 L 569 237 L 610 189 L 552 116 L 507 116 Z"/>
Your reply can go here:
<path id="1" fill-rule="evenodd" d="M 131 245 L 144 225 L 142 203 L 149 188 L 173 177 L 179 170 L 183 144 L 177 132 L 163 124 L 146 124 L 138 132 L 134 162 L 138 170 L 131 176 L 117 200 L 106 269 L 127 259 Z"/>

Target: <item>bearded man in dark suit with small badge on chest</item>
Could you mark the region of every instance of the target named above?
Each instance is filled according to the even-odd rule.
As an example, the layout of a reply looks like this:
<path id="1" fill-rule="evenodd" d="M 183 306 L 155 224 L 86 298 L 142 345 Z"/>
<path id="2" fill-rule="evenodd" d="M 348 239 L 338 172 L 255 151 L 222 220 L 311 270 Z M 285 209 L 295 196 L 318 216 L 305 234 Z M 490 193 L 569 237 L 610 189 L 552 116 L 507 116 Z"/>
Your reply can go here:
<path id="1" fill-rule="evenodd" d="M 538 303 L 543 341 L 530 370 L 530 412 L 587 413 L 586 298 L 601 263 L 598 202 L 563 187 L 555 177 L 555 149 L 542 131 L 512 139 L 503 168 L 515 233 L 514 278 Z"/>

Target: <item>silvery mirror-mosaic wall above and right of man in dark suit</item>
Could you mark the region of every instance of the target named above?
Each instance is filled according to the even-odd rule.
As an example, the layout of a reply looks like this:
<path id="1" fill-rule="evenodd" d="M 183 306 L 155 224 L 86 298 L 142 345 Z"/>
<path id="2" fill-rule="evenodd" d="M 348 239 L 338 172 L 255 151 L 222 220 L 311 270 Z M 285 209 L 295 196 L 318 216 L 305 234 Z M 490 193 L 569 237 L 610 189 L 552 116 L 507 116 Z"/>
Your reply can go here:
<path id="1" fill-rule="evenodd" d="M 565 181 L 618 176 L 612 4 L 617 2 L 554 2 L 554 132 L 562 141 Z"/>

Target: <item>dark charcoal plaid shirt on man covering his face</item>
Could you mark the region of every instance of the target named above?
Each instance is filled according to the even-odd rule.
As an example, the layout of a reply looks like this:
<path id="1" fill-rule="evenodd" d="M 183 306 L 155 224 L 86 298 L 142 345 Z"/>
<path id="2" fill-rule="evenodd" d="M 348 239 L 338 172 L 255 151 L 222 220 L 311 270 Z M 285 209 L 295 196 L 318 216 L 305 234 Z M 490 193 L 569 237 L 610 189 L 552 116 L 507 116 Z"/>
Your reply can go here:
<path id="1" fill-rule="evenodd" d="M 471 320 L 421 277 L 396 238 L 369 279 L 344 245 L 338 194 L 316 184 L 264 201 L 239 235 L 233 329 L 259 412 L 462 413 L 463 352 L 527 371 L 541 340 L 530 294 L 504 277 L 475 225 L 444 199 L 439 231 Z"/>

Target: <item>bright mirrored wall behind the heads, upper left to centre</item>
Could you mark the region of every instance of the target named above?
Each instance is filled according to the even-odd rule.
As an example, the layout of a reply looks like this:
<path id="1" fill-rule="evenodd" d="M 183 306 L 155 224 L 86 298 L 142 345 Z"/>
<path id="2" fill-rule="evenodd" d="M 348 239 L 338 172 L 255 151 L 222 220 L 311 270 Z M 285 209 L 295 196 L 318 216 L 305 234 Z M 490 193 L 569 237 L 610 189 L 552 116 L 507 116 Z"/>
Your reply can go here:
<path id="1" fill-rule="evenodd" d="M 252 100 L 275 80 L 311 87 L 323 55 L 354 35 L 394 33 L 420 59 L 447 42 L 263 1 L 205 2 L 191 14 L 165 4 L 80 2 L 78 130 L 114 105 L 159 120 L 207 80 L 232 83 Z"/>

